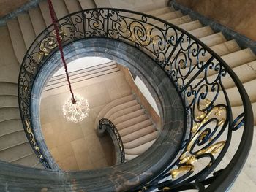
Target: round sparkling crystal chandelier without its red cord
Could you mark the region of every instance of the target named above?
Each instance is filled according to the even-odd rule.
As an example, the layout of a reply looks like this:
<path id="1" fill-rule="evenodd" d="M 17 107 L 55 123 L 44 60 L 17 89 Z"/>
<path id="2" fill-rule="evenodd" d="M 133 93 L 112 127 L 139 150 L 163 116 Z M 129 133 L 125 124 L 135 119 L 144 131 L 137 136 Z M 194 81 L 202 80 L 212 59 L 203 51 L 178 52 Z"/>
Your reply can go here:
<path id="1" fill-rule="evenodd" d="M 63 114 L 68 121 L 78 123 L 84 118 L 88 117 L 90 110 L 89 104 L 87 99 L 85 100 L 83 99 L 83 97 L 80 96 L 75 96 L 75 104 L 72 103 L 72 100 L 72 96 L 67 99 L 66 103 L 63 106 Z"/>

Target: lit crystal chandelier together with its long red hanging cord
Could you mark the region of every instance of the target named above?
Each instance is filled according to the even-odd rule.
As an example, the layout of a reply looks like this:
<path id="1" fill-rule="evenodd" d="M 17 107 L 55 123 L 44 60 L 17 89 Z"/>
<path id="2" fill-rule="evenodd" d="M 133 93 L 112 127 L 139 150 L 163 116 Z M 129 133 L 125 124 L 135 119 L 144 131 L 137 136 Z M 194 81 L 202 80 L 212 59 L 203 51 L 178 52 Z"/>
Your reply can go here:
<path id="1" fill-rule="evenodd" d="M 63 53 L 63 47 L 61 45 L 61 37 L 59 36 L 59 23 L 57 23 L 56 14 L 53 9 L 53 4 L 51 0 L 48 0 L 49 10 L 50 10 L 50 17 L 53 21 L 54 31 L 56 33 L 56 39 L 59 46 L 59 51 L 61 53 L 61 60 L 65 68 L 66 76 L 67 76 L 67 82 L 69 85 L 69 91 L 71 93 L 71 96 L 65 104 L 63 105 L 63 114 L 64 117 L 67 118 L 68 121 L 72 121 L 74 123 L 78 123 L 82 121 L 84 118 L 89 116 L 89 103 L 87 99 L 83 99 L 83 97 L 74 95 L 72 88 L 71 88 L 71 82 L 69 80 L 69 73 L 67 71 L 67 63 L 64 58 Z"/>

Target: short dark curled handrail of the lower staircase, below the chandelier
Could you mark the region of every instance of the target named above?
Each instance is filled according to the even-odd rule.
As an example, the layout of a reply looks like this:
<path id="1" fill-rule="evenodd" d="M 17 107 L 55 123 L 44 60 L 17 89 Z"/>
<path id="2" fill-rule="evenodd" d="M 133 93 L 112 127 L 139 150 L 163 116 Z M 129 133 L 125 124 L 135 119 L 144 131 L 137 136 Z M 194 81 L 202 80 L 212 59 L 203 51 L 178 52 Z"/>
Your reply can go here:
<path id="1" fill-rule="evenodd" d="M 99 120 L 99 130 L 100 131 L 108 131 L 110 137 L 112 138 L 115 149 L 116 149 L 116 164 L 122 164 L 125 161 L 125 153 L 124 153 L 124 144 L 121 140 L 121 136 L 116 128 L 116 126 L 106 118 L 102 118 Z"/>

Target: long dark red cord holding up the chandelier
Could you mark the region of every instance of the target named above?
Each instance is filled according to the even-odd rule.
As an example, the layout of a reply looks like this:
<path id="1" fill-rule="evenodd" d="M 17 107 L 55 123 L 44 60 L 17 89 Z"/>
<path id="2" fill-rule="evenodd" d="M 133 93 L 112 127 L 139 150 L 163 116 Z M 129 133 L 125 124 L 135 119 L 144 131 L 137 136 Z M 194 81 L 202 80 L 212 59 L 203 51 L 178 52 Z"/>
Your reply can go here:
<path id="1" fill-rule="evenodd" d="M 58 27 L 58 23 L 57 23 L 57 17 L 54 12 L 53 3 L 51 0 L 48 0 L 48 5 L 49 5 L 49 10 L 50 10 L 50 17 L 53 21 L 54 31 L 56 32 L 56 38 L 57 38 L 57 42 L 58 42 L 58 46 L 59 46 L 59 52 L 61 53 L 61 60 L 62 60 L 62 63 L 64 64 L 64 68 L 65 68 L 65 72 L 66 72 L 66 76 L 67 76 L 67 82 L 69 84 L 69 91 L 72 95 L 72 103 L 75 104 L 76 103 L 75 96 L 74 96 L 74 93 L 71 88 L 71 82 L 69 80 L 69 73 L 67 72 L 67 64 L 66 64 L 66 61 L 64 58 L 63 47 L 61 45 L 61 37 L 59 37 L 59 27 Z"/>

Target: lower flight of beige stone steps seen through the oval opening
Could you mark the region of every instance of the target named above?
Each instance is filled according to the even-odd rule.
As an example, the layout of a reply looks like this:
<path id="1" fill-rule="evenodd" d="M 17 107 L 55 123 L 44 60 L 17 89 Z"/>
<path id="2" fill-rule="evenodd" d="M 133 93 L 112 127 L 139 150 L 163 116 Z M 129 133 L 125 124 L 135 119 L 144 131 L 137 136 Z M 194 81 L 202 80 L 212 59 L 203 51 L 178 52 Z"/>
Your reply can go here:
<path id="1" fill-rule="evenodd" d="M 101 118 L 108 118 L 118 129 L 127 161 L 145 152 L 159 135 L 156 126 L 133 95 L 107 104 L 99 112 L 94 128 L 97 128 Z"/>

